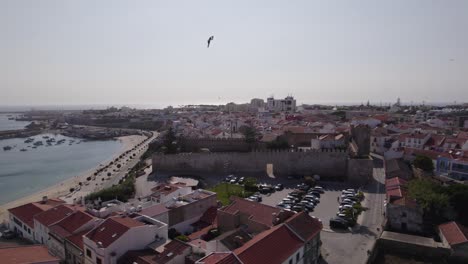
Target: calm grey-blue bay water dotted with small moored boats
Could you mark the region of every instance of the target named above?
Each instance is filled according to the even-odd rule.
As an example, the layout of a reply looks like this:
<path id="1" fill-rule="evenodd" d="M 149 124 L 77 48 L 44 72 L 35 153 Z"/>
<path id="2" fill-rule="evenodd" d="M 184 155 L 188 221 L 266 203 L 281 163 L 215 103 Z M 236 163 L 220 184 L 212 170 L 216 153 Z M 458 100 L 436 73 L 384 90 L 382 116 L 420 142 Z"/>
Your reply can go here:
<path id="1" fill-rule="evenodd" d="M 2 118 L 0 130 L 21 128 L 26 124 Z M 8 129 L 5 129 L 8 127 Z M 47 139 L 54 138 L 50 146 Z M 80 175 L 112 158 L 122 144 L 119 141 L 81 141 L 62 135 L 44 134 L 32 137 L 43 145 L 34 147 L 34 142 L 25 143 L 25 138 L 0 140 L 0 204 L 46 189 L 65 179 Z M 65 139 L 62 144 L 57 144 Z M 3 147 L 10 146 L 5 151 Z M 24 149 L 26 151 L 21 151 Z"/>

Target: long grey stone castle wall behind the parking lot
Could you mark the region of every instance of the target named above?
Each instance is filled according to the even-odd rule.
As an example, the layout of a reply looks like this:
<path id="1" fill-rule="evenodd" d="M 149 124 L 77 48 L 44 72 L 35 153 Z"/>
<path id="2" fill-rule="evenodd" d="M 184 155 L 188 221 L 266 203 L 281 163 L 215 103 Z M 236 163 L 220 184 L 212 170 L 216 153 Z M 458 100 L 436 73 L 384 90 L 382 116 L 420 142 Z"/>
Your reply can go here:
<path id="1" fill-rule="evenodd" d="M 348 152 L 344 150 L 155 154 L 153 170 L 180 173 L 266 173 L 267 164 L 273 164 L 275 176 L 318 174 L 321 177 L 346 179 L 348 157 Z"/>

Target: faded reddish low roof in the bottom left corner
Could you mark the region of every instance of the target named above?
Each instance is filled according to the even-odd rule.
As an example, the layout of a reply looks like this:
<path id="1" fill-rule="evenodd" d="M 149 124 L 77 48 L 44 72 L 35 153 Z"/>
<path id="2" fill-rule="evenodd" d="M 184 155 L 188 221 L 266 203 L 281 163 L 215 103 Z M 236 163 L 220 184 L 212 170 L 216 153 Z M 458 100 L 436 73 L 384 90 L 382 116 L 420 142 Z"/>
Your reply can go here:
<path id="1" fill-rule="evenodd" d="M 60 259 L 51 256 L 47 247 L 42 245 L 18 246 L 0 249 L 2 263 L 59 263 Z"/>

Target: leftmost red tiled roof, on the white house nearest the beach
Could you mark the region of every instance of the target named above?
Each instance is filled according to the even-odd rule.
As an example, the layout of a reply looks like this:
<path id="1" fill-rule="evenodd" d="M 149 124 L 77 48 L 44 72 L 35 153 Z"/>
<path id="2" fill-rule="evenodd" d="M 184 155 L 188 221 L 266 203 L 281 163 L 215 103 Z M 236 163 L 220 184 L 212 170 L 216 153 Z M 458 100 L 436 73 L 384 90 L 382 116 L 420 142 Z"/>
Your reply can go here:
<path id="1" fill-rule="evenodd" d="M 31 228 L 34 228 L 34 216 L 48 210 L 56 205 L 62 204 L 64 201 L 59 199 L 49 199 L 47 202 L 34 202 L 23 204 L 15 208 L 8 209 L 8 212 L 21 220 Z"/>

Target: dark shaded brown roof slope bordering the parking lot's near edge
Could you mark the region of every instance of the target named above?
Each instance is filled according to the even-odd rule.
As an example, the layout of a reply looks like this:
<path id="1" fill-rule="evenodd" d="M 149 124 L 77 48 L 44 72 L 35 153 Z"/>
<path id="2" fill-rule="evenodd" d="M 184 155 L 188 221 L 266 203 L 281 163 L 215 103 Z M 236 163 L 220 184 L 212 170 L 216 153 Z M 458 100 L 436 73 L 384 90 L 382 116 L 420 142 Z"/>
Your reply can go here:
<path id="1" fill-rule="evenodd" d="M 314 238 L 323 228 L 322 222 L 304 212 L 295 214 L 285 223 L 305 241 Z"/>

